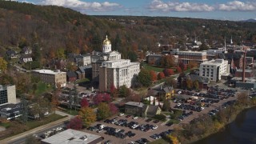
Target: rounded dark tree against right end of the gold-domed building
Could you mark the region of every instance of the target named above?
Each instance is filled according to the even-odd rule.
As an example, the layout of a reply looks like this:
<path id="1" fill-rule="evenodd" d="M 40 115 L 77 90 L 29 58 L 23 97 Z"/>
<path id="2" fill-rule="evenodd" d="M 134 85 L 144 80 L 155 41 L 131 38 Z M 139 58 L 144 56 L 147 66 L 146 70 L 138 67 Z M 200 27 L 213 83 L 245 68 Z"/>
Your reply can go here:
<path id="1" fill-rule="evenodd" d="M 148 70 L 142 69 L 138 73 L 138 82 L 140 82 L 142 86 L 146 86 L 146 87 L 150 86 L 152 83 L 150 72 Z"/>

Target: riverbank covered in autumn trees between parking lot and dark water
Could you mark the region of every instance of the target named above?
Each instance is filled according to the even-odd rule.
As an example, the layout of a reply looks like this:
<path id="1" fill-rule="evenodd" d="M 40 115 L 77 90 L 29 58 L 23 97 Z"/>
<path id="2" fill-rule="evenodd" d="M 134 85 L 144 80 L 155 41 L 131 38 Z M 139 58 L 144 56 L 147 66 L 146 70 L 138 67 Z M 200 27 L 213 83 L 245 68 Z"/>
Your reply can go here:
<path id="1" fill-rule="evenodd" d="M 174 130 L 174 137 L 179 142 L 193 143 L 225 130 L 226 125 L 234 122 L 235 118 L 242 110 L 256 106 L 256 98 L 248 99 L 246 95 L 238 96 L 238 101 L 226 109 L 219 110 L 218 114 L 210 117 L 208 114 L 194 119 L 190 124 L 184 124 Z"/>

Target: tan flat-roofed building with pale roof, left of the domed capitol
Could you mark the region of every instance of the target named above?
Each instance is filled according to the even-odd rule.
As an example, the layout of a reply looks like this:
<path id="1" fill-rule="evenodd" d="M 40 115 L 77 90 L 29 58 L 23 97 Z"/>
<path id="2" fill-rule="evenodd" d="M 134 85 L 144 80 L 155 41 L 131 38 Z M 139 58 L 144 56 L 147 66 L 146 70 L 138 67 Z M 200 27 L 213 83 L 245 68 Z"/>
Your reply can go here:
<path id="1" fill-rule="evenodd" d="M 60 70 L 34 70 L 34 77 L 38 77 L 42 82 L 50 83 L 51 85 L 63 87 L 66 86 L 66 72 Z"/>

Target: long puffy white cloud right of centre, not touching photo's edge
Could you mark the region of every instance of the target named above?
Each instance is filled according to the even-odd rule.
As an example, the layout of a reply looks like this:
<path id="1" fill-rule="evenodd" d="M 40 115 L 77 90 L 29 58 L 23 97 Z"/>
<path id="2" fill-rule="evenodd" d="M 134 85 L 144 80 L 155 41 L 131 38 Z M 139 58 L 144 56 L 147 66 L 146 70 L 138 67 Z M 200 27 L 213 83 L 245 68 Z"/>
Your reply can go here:
<path id="1" fill-rule="evenodd" d="M 162 2 L 161 0 L 153 0 L 150 2 L 148 8 L 151 11 L 177 11 L 177 12 L 201 12 L 201 11 L 213 11 L 214 6 L 209 6 L 205 3 L 193 3 L 193 2 Z"/>

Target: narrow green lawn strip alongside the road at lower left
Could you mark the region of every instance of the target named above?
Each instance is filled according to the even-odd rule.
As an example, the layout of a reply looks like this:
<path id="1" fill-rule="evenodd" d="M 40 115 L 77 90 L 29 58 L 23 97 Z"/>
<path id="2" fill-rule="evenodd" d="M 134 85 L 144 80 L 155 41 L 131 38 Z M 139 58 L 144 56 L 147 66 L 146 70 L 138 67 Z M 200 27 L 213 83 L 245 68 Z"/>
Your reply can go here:
<path id="1" fill-rule="evenodd" d="M 50 122 L 57 121 L 58 119 L 65 118 L 65 116 L 61 116 L 58 114 L 50 114 L 46 118 L 42 118 L 42 120 L 31 120 L 29 122 L 26 122 L 26 126 L 29 129 L 34 129 L 35 127 L 45 125 Z"/>

